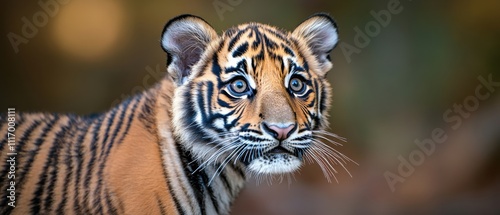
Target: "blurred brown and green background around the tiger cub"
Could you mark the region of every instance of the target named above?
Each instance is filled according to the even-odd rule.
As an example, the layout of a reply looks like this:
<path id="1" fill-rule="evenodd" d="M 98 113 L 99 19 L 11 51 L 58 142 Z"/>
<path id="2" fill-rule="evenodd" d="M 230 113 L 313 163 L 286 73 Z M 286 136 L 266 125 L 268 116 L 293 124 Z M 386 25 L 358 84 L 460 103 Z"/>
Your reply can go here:
<path id="1" fill-rule="evenodd" d="M 500 87 L 473 98 L 478 77 L 500 82 L 500 1 L 61 0 L 49 14 L 39 2 L 53 1 L 4 1 L 0 9 L 0 110 L 105 111 L 164 74 L 160 33 L 179 14 L 222 32 L 248 21 L 293 30 L 327 12 L 340 29 L 328 75 L 330 131 L 348 139 L 337 149 L 359 166 L 347 165 L 352 178 L 337 166 L 331 184 L 315 165 L 291 185 L 250 181 L 233 214 L 500 214 Z M 374 25 L 371 11 L 395 5 L 385 27 Z M 346 54 L 367 25 L 366 47 Z M 462 116 L 454 105 L 464 102 Z M 460 117 L 445 121 L 448 109 Z M 423 155 L 415 141 L 436 128 L 446 141 L 414 157 Z M 417 164 L 404 177 L 400 156 Z M 388 172 L 401 177 L 394 191 Z"/>

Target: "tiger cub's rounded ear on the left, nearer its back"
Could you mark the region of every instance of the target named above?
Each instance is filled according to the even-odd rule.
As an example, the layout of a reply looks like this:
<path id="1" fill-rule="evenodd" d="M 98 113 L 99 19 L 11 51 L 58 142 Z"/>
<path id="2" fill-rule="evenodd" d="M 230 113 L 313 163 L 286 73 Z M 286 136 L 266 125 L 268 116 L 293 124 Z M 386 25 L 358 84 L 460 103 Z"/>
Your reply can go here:
<path id="1" fill-rule="evenodd" d="M 177 85 L 191 74 L 206 46 L 217 33 L 205 20 L 193 15 L 180 15 L 163 28 L 161 46 L 167 52 L 167 71 Z"/>

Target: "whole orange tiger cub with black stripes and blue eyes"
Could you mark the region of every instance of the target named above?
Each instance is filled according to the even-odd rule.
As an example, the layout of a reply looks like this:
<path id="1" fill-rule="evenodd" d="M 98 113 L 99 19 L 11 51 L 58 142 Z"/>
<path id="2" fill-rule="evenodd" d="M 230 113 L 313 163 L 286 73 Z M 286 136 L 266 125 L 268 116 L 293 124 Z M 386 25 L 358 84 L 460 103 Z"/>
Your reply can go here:
<path id="1" fill-rule="evenodd" d="M 326 14 L 293 32 L 247 23 L 222 35 L 196 16 L 170 20 L 168 73 L 153 88 L 92 117 L 16 114 L 14 142 L 1 116 L 0 214 L 228 214 L 251 175 L 310 160 L 329 179 L 349 160 L 321 142 L 336 137 L 323 129 L 337 41 Z"/>

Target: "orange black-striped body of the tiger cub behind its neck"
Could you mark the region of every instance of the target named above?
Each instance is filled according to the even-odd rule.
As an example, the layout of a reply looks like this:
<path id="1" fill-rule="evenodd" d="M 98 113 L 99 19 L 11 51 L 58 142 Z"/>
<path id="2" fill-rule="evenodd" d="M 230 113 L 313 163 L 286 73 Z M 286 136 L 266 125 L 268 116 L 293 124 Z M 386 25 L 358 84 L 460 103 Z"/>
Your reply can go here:
<path id="1" fill-rule="evenodd" d="M 167 177 L 158 174 L 164 167 L 156 101 L 145 93 L 91 117 L 16 114 L 15 139 L 0 142 L 2 152 L 15 153 L 1 154 L 15 160 L 15 170 L 13 178 L 0 178 L 2 190 L 15 189 L 15 199 L 2 198 L 0 214 L 174 213 Z M 7 137 L 5 117 L 1 137 Z M 11 165 L 0 171 L 8 175 Z"/>

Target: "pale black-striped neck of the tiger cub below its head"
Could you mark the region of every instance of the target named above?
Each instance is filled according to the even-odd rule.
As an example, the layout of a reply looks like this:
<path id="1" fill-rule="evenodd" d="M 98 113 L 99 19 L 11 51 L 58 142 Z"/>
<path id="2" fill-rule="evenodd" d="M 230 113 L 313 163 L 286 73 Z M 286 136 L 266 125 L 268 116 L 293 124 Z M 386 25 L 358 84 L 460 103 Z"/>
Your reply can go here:
<path id="1" fill-rule="evenodd" d="M 203 166 L 175 136 L 172 123 L 173 83 L 164 80 L 156 94 L 160 147 L 168 186 L 181 214 L 227 214 L 245 183 L 245 173 L 233 164 Z M 208 143 L 207 143 L 208 144 Z"/>

